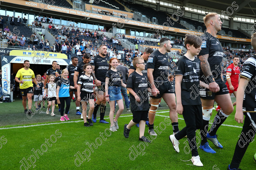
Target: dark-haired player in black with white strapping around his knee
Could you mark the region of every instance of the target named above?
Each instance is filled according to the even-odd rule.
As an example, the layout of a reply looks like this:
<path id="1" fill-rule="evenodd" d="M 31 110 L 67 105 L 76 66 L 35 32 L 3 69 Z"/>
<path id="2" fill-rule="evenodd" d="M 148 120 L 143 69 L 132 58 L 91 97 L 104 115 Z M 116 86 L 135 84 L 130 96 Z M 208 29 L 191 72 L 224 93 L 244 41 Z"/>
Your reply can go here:
<path id="1" fill-rule="evenodd" d="M 158 109 L 161 98 L 169 106 L 169 116 L 172 121 L 173 133 L 179 131 L 178 114 L 176 112 L 175 94 L 168 79 L 170 59 L 167 52 L 171 51 L 171 41 L 168 38 L 161 38 L 159 50 L 154 51 L 148 57 L 148 80 L 151 85 L 150 110 L 148 112 L 149 130 L 151 135 L 157 135 L 154 131 L 155 113 Z M 157 130 L 157 127 L 155 128 Z"/>

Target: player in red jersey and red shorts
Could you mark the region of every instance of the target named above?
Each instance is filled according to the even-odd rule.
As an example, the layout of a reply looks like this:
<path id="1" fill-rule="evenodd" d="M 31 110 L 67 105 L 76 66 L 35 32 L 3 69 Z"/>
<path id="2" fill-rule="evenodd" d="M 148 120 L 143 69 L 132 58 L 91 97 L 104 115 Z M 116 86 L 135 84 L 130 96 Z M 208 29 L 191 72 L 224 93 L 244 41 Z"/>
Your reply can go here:
<path id="1" fill-rule="evenodd" d="M 226 85 L 229 90 L 229 95 L 231 96 L 231 94 L 233 93 L 235 97 L 236 97 L 236 91 L 238 88 L 238 83 L 240 80 L 240 76 L 239 76 L 240 68 L 237 66 L 238 63 L 239 63 L 239 56 L 234 56 L 233 63 L 227 67 L 227 73 L 226 73 L 226 77 L 227 77 Z M 236 105 L 236 102 L 233 103 L 233 106 L 235 105 Z"/>

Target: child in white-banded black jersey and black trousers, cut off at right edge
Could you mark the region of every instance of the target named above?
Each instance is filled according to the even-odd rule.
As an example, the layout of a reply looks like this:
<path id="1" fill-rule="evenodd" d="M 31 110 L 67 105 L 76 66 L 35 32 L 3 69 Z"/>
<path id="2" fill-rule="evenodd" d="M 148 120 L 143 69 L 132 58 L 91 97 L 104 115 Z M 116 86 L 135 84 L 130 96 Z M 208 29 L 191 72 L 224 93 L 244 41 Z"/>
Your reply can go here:
<path id="1" fill-rule="evenodd" d="M 256 33 L 251 36 L 251 45 L 256 49 Z M 241 170 L 240 162 L 256 133 L 256 55 L 248 58 L 244 64 L 236 94 L 235 120 L 243 123 L 240 138 L 236 143 L 235 152 L 227 170 Z M 245 118 L 244 118 L 245 115 Z M 243 135 L 242 135 L 243 134 Z M 244 139 L 245 138 L 245 139 Z M 255 156 L 254 156 L 255 158 Z"/>

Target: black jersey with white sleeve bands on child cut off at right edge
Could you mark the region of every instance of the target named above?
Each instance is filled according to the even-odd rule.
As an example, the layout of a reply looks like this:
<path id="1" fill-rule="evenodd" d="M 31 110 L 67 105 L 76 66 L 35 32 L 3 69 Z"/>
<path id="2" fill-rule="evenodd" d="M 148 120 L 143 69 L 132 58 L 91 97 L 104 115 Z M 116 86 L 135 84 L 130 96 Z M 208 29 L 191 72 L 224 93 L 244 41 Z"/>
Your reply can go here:
<path id="1" fill-rule="evenodd" d="M 243 112 L 256 112 L 256 55 L 244 62 L 240 77 L 249 79 L 244 92 Z"/>

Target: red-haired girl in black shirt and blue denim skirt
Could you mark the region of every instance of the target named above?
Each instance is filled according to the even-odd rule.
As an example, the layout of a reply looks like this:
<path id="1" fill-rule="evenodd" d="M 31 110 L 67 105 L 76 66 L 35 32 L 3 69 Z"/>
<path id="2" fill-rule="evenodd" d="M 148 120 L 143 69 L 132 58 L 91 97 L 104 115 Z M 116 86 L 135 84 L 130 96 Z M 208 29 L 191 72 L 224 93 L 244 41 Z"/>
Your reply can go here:
<path id="1" fill-rule="evenodd" d="M 116 58 L 111 58 L 109 60 L 109 69 L 106 73 L 106 100 L 109 101 L 110 105 L 110 130 L 117 131 L 119 129 L 117 124 L 118 117 L 123 112 L 123 97 L 121 94 L 121 86 L 126 88 L 126 84 L 123 83 L 123 75 L 122 72 L 116 70 L 118 60 Z M 107 90 L 108 89 L 108 90 Z M 118 104 L 119 110 L 116 112 L 116 117 L 114 119 L 114 112 L 115 112 L 115 101 Z M 114 120 L 113 120 L 114 119 Z"/>

